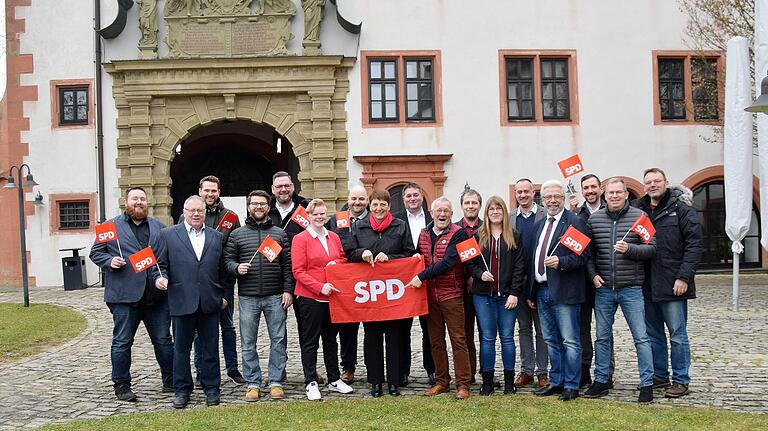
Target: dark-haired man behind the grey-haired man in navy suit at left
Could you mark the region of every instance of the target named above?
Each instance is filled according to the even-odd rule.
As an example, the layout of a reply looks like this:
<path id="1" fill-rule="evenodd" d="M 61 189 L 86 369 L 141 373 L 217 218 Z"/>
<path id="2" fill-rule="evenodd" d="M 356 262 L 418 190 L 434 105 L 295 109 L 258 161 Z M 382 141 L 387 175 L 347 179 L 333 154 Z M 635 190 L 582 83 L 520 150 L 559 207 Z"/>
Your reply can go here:
<path id="1" fill-rule="evenodd" d="M 240 219 L 237 214 L 224 207 L 221 201 L 221 181 L 208 175 L 200 180 L 198 194 L 205 201 L 205 226 L 224 234 L 224 244 L 227 243 L 229 234 L 240 227 Z M 220 227 L 219 223 L 227 214 L 234 215 L 235 223 L 232 227 Z M 184 223 L 184 214 L 179 217 L 179 223 Z M 227 367 L 227 376 L 236 385 L 245 383 L 243 375 L 237 369 L 237 334 L 235 333 L 234 312 L 235 312 L 235 277 L 226 275 L 222 277 L 221 284 L 224 287 L 224 299 L 227 300 L 227 308 L 219 313 L 219 326 L 221 327 L 221 351 L 224 353 L 224 364 Z M 195 383 L 200 384 L 200 339 L 195 335 Z"/>

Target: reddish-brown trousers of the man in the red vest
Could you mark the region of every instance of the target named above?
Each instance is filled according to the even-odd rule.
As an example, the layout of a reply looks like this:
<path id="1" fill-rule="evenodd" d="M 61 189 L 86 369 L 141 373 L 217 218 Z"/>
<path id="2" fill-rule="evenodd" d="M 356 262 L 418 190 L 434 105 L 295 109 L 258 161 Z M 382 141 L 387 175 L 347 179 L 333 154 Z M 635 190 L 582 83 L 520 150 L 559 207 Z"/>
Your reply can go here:
<path id="1" fill-rule="evenodd" d="M 445 344 L 445 329 L 451 338 L 453 369 L 456 372 L 456 387 L 469 388 L 472 378 L 469 368 L 469 354 L 464 337 L 464 299 L 454 298 L 429 304 L 429 340 L 432 344 L 432 358 L 435 360 L 435 380 L 438 385 L 448 386 L 451 375 L 448 371 L 448 349 Z"/>

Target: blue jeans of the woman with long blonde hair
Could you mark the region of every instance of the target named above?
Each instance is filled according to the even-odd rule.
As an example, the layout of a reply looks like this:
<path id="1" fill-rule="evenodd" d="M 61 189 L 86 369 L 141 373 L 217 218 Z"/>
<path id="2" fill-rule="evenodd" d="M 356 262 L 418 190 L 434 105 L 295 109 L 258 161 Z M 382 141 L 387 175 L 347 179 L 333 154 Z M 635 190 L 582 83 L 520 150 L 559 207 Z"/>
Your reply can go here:
<path id="1" fill-rule="evenodd" d="M 507 295 L 472 295 L 477 323 L 480 325 L 480 365 L 482 371 L 496 366 L 496 334 L 501 340 L 501 360 L 504 370 L 515 370 L 515 320 L 520 307 L 504 308 Z"/>

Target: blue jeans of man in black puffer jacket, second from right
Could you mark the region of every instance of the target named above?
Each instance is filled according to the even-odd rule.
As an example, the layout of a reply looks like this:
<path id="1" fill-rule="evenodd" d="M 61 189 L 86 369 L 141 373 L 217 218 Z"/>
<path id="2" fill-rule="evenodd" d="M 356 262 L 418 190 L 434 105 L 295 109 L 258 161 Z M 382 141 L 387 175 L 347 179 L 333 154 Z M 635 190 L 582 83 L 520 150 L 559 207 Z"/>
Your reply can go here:
<path id="1" fill-rule="evenodd" d="M 640 373 L 640 386 L 653 384 L 653 352 L 651 340 L 645 328 L 645 306 L 643 290 L 637 287 L 624 287 L 612 290 L 600 287 L 595 292 L 595 381 L 608 382 L 608 368 L 611 361 L 611 334 L 616 309 L 621 312 L 632 332 L 637 352 L 637 370 Z"/>

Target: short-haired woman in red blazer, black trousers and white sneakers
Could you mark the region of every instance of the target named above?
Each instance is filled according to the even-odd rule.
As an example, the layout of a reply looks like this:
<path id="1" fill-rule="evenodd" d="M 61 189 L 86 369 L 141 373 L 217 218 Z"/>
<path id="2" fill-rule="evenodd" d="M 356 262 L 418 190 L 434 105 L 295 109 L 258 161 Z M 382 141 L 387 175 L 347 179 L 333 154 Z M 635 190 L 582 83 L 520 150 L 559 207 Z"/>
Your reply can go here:
<path id="1" fill-rule="evenodd" d="M 307 385 L 307 399 L 321 398 L 317 386 L 317 349 L 320 337 L 323 339 L 323 362 L 328 373 L 328 390 L 342 394 L 351 393 L 352 388 L 341 380 L 339 373 L 337 325 L 331 323 L 328 297 L 338 290 L 325 279 L 325 267 L 347 261 L 338 235 L 325 228 L 326 209 L 322 199 L 313 199 L 307 205 L 309 228 L 293 237 L 291 261 L 293 276 L 296 278 L 296 311 L 301 319 L 302 331 L 301 365 L 304 368 L 304 383 Z"/>

